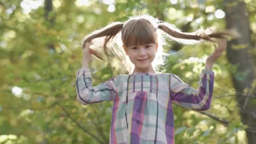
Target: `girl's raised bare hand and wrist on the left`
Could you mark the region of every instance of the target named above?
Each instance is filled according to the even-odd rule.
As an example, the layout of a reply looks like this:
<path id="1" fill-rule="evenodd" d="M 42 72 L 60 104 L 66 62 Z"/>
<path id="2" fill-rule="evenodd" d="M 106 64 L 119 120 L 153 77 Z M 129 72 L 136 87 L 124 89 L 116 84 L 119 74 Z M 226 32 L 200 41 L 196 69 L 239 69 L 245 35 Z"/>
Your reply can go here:
<path id="1" fill-rule="evenodd" d="M 89 48 L 91 42 L 85 43 L 85 47 L 83 48 L 83 60 L 82 67 L 88 67 L 92 61 L 91 53 L 92 50 Z"/>

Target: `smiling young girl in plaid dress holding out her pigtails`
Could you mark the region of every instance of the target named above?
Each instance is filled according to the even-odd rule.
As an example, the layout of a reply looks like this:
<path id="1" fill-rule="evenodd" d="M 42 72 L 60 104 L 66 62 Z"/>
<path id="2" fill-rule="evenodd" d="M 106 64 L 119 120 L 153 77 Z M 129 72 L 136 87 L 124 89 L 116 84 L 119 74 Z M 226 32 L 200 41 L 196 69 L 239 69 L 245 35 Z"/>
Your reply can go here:
<path id="1" fill-rule="evenodd" d="M 181 43 L 199 43 L 211 38 L 224 38 L 225 33 L 205 34 L 203 30 L 184 33 L 171 24 L 149 15 L 114 22 L 85 37 L 82 68 L 77 71 L 77 99 L 81 104 L 114 101 L 110 129 L 110 144 L 174 144 L 172 103 L 188 109 L 207 110 L 211 105 L 214 72 L 212 65 L 226 49 L 226 41 L 208 57 L 200 74 L 197 90 L 184 83 L 177 75 L 157 72 L 157 61 L 163 62 L 163 34 Z M 104 37 L 104 52 L 118 51 L 108 45 L 121 35 L 123 66 L 128 75 L 117 75 L 97 86 L 92 86 L 89 67 L 93 39 Z M 116 39 L 117 39 L 116 38 Z M 114 42 L 112 42 L 114 43 Z M 103 51 L 103 50 L 101 50 Z M 128 59 L 125 59 L 125 56 Z M 129 63 L 130 60 L 130 63 Z M 162 60 L 162 61 L 161 61 Z M 125 61 L 125 62 L 124 62 Z"/>

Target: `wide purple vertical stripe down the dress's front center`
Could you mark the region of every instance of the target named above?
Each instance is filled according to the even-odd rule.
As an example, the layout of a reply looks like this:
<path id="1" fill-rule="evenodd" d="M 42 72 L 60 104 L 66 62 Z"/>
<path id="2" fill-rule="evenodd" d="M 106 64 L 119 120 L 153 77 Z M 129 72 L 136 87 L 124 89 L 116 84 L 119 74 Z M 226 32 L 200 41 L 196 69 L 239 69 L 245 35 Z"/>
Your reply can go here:
<path id="1" fill-rule="evenodd" d="M 139 91 L 136 93 L 133 103 L 133 114 L 131 122 L 131 144 L 140 144 L 140 132 L 139 129 L 143 125 L 145 104 L 147 101 L 147 93 Z"/>

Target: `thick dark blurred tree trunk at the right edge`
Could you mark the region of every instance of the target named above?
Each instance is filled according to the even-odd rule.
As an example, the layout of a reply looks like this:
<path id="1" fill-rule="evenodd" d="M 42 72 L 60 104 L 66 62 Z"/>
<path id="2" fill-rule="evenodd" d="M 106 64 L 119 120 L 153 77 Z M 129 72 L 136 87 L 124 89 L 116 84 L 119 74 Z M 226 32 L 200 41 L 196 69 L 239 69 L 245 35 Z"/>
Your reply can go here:
<path id="1" fill-rule="evenodd" d="M 232 80 L 237 91 L 237 104 L 240 107 L 242 121 L 249 127 L 246 129 L 249 144 L 256 144 L 256 106 L 253 92 L 245 92 L 246 88 L 252 88 L 253 80 L 256 80 L 256 65 L 253 61 L 253 56 L 250 54 L 251 46 L 251 31 L 249 20 L 245 14 L 245 3 L 240 0 L 224 0 L 226 7 L 226 24 L 227 29 L 235 29 L 240 38 L 229 41 L 227 47 L 227 57 L 230 63 L 238 65 L 237 72 L 232 73 Z M 246 48 L 234 49 L 234 45 L 246 45 Z M 239 76 L 245 74 L 243 80 Z M 253 91 L 256 91 L 254 89 Z M 241 96 L 245 93 L 246 96 Z M 255 95 L 255 93 L 254 93 Z"/>

